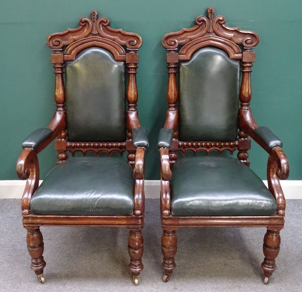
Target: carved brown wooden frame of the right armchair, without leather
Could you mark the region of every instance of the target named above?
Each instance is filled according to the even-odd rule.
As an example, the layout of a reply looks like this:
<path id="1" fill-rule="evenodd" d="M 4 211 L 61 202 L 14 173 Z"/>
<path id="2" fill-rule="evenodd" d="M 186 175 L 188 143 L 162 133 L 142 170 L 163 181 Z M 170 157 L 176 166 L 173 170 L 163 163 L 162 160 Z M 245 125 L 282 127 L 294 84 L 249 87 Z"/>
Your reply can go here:
<path id="1" fill-rule="evenodd" d="M 276 269 L 275 258 L 279 253 L 279 231 L 284 226 L 285 198 L 279 179 L 286 179 L 289 174 L 287 157 L 280 147 L 268 148 L 263 141 L 255 136 L 253 130 L 258 128 L 251 109 L 252 96 L 250 75 L 252 63 L 256 60 L 253 48 L 259 43 L 259 37 L 251 31 L 243 31 L 238 28 L 230 28 L 224 25 L 223 16 L 214 17 L 214 8 L 209 7 L 207 17 L 199 16 L 195 20 L 195 26 L 182 29 L 175 33 L 168 33 L 163 37 L 162 44 L 169 51 L 168 63 L 168 111 L 164 128 L 173 129 L 174 135 L 170 149 L 160 148 L 161 155 L 161 222 L 163 228 L 162 252 L 164 255 L 163 268 L 164 281 L 168 281 L 175 268 L 175 254 L 177 250 L 177 237 L 175 231 L 180 227 L 266 227 L 263 252 L 264 283 Z M 182 46 L 179 49 L 179 46 Z M 229 57 L 242 62 L 242 81 L 240 89 L 239 132 L 238 140 L 233 142 L 196 141 L 186 142 L 178 140 L 178 86 L 177 70 L 180 61 L 190 60 L 198 49 L 214 46 L 228 53 Z M 177 51 L 179 49 L 179 51 Z M 251 148 L 253 138 L 269 154 L 267 162 L 268 188 L 273 194 L 278 211 L 276 216 L 244 216 L 244 217 L 179 217 L 171 215 L 170 179 L 171 168 L 177 160 L 177 151 L 184 155 L 188 151 L 196 154 L 198 151 L 228 150 L 231 154 L 238 150 L 237 157 L 247 166 L 248 150 Z"/>

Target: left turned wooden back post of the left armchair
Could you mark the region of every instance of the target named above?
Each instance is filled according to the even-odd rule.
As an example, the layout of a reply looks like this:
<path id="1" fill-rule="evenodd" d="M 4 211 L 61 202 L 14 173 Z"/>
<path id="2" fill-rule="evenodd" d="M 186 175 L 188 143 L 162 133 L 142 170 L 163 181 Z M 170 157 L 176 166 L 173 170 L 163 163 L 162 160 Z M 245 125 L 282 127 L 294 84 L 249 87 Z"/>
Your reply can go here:
<path id="1" fill-rule="evenodd" d="M 51 63 L 53 63 L 55 74 L 54 100 L 56 103 L 56 112 L 65 112 L 65 86 L 64 86 L 64 55 L 58 51 L 51 54 Z M 61 131 L 58 139 L 55 141 L 55 149 L 58 151 L 57 164 L 64 162 L 67 158 L 66 148 L 67 133 Z"/>

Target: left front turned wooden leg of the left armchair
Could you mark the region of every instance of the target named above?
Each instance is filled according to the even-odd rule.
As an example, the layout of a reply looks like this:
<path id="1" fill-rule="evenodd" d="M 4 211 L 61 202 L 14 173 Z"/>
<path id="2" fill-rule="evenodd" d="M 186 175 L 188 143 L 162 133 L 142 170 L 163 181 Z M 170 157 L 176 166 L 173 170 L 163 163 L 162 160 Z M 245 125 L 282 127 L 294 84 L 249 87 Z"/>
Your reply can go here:
<path id="1" fill-rule="evenodd" d="M 46 262 L 43 258 L 43 236 L 39 228 L 27 230 L 27 250 L 31 256 L 31 269 L 36 273 L 40 283 L 44 283 L 43 269 Z"/>

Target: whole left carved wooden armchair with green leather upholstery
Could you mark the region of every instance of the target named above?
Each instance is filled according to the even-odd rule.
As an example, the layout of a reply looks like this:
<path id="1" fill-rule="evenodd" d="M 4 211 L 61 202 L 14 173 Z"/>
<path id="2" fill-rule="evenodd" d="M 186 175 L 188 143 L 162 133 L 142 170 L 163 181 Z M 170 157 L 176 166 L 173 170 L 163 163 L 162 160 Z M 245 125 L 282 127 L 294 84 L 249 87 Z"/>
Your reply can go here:
<path id="1" fill-rule="evenodd" d="M 126 227 L 135 284 L 143 268 L 144 152 L 148 141 L 138 120 L 135 78 L 142 41 L 139 35 L 112 29 L 109 24 L 93 11 L 91 18 L 80 20 L 80 27 L 47 39 L 53 50 L 56 111 L 47 128 L 34 131 L 23 142 L 17 163 L 18 176 L 27 179 L 22 215 L 31 268 L 41 283 L 46 263 L 40 226 Z M 57 166 L 38 186 L 37 154 L 55 138 Z M 111 156 L 125 150 L 128 162 Z M 73 157 L 79 151 L 84 156 Z M 95 155 L 86 156 L 88 152 Z M 100 152 L 109 156 L 100 157 Z"/>

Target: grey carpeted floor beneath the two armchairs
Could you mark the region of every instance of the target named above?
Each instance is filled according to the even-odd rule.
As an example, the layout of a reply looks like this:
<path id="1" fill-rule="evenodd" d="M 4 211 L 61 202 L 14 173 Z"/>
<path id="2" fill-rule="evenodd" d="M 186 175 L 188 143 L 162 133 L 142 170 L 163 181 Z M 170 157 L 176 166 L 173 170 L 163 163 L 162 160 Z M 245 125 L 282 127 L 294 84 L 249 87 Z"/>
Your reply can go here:
<path id="1" fill-rule="evenodd" d="M 278 269 L 262 283 L 264 228 L 181 229 L 177 268 L 162 277 L 159 200 L 146 200 L 144 269 L 139 286 L 128 271 L 127 231 L 120 228 L 41 228 L 45 283 L 29 268 L 20 200 L 0 200 L 1 291 L 302 291 L 302 200 L 287 203 Z"/>

